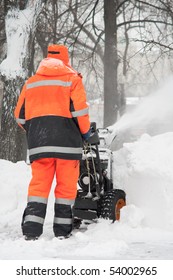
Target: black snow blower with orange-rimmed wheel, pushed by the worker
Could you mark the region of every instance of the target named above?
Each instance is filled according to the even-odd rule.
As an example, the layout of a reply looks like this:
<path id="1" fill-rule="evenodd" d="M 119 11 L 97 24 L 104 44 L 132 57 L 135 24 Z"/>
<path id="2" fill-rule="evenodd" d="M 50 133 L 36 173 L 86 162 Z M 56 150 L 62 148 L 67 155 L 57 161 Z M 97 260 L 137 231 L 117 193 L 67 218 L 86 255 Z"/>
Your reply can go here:
<path id="1" fill-rule="evenodd" d="M 82 220 L 96 220 L 99 217 L 113 222 L 120 219 L 120 209 L 126 205 L 123 190 L 114 189 L 112 181 L 112 151 L 106 148 L 106 129 L 96 129 L 91 123 L 91 136 L 83 145 L 80 162 L 77 197 L 74 204 L 74 228 Z"/>

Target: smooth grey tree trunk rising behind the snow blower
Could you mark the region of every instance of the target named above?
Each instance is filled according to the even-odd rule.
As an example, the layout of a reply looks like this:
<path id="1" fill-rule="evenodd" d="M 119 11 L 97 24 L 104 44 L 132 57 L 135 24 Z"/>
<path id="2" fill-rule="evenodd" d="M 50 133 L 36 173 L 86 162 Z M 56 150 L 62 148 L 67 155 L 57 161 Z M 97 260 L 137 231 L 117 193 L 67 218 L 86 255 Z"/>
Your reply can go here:
<path id="1" fill-rule="evenodd" d="M 112 125 L 118 115 L 117 87 L 117 23 L 116 3 L 104 0 L 105 52 L 104 52 L 104 127 Z"/>

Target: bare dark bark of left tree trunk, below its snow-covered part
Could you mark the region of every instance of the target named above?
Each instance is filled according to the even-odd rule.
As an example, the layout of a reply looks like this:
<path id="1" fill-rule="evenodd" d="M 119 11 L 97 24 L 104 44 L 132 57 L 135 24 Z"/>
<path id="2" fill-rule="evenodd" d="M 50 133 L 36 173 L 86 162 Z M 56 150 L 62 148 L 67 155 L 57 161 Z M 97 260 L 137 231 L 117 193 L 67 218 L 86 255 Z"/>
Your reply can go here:
<path id="1" fill-rule="evenodd" d="M 16 162 L 26 159 L 25 133 L 17 126 L 13 110 L 23 79 L 5 79 L 2 107 L 2 127 L 0 132 L 0 158 Z M 13 95 L 13 98 L 11 96 Z M 8 108 L 8 109 L 7 109 Z"/>

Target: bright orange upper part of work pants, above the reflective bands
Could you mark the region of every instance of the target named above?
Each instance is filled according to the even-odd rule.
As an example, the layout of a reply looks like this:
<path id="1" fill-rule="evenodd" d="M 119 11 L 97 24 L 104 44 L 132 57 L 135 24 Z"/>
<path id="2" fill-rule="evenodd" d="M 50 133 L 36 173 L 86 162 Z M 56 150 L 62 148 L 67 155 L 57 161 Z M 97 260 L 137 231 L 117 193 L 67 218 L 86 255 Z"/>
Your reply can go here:
<path id="1" fill-rule="evenodd" d="M 76 198 L 79 160 L 42 158 L 33 161 L 31 168 L 28 196 L 48 198 L 56 175 L 55 198 Z"/>

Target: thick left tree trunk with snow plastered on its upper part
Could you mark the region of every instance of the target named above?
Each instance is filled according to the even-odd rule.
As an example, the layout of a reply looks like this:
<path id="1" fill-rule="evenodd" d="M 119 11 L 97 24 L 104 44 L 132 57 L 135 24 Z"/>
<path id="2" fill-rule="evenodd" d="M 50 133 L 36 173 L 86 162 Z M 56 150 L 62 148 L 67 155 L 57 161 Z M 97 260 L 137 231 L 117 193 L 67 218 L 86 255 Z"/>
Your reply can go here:
<path id="1" fill-rule="evenodd" d="M 13 9 L 7 14 L 6 20 L 10 17 L 13 20 L 7 24 L 7 58 L 0 64 L 0 80 L 3 81 L 0 158 L 13 162 L 26 159 L 26 137 L 14 120 L 14 108 L 29 75 L 36 20 L 42 7 L 41 1 L 28 0 L 27 3 L 29 9 L 22 12 Z M 17 40 L 18 48 L 13 49 L 13 42 L 17 44 Z"/>

